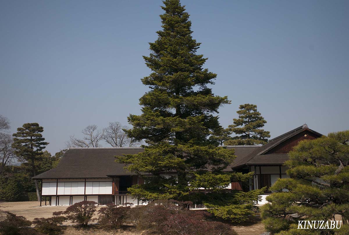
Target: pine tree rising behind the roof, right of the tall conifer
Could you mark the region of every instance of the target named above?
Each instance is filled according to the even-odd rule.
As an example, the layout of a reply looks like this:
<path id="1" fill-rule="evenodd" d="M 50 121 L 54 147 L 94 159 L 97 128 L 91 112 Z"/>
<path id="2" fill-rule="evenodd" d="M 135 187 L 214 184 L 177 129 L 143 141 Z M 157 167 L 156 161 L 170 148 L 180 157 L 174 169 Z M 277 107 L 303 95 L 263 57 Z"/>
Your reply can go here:
<path id="1" fill-rule="evenodd" d="M 240 105 L 236 113 L 239 118 L 233 119 L 234 124 L 229 125 L 228 129 L 239 136 L 225 141 L 224 145 L 256 145 L 268 142 L 270 132 L 261 129 L 267 121 L 257 111 L 257 105 Z"/>

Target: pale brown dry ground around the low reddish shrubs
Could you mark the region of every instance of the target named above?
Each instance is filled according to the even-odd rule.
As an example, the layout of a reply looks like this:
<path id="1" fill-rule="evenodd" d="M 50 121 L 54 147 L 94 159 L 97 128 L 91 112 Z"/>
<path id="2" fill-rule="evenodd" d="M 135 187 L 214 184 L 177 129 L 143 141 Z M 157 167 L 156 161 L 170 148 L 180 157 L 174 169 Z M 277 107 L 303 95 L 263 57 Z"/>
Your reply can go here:
<path id="1" fill-rule="evenodd" d="M 44 202 L 45 204 L 45 202 Z M 20 202 L 0 202 L 0 220 L 5 218 L 4 211 L 9 211 L 16 215 L 23 215 L 28 220 L 34 220 L 34 218 L 49 218 L 52 216 L 52 212 L 65 211 L 67 206 L 42 206 L 37 201 L 20 201 Z M 99 207 L 101 208 L 101 207 Z M 98 208 L 98 209 L 99 209 Z M 69 225 L 69 223 L 66 223 Z M 240 224 L 238 226 L 231 226 L 239 235 L 260 235 L 265 232 L 264 226 L 261 223 L 259 217 L 253 218 L 251 221 Z M 81 229 L 76 227 L 67 227 L 64 235 L 140 235 L 142 232 L 138 232 L 133 228 L 120 229 L 118 232 L 105 232 L 98 229 L 97 226 L 91 226 L 89 229 Z"/>

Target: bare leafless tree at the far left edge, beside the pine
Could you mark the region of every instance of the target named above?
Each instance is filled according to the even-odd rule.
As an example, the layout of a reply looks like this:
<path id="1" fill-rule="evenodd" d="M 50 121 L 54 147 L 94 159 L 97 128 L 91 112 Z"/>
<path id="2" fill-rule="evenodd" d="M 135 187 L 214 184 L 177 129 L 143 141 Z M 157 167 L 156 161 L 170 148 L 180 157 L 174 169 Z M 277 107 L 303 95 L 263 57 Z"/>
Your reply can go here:
<path id="1" fill-rule="evenodd" d="M 12 148 L 13 137 L 7 133 L 0 133 L 0 173 L 6 165 L 9 165 L 16 158 Z"/>

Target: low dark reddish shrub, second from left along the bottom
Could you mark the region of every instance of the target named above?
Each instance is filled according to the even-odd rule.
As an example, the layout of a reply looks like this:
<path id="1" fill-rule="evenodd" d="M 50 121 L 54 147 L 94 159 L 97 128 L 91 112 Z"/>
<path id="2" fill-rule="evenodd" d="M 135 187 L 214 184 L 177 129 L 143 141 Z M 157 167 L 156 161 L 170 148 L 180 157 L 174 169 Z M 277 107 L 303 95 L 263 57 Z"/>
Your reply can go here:
<path id="1" fill-rule="evenodd" d="M 67 220 L 65 216 L 62 216 L 64 212 L 57 211 L 52 213 L 51 218 L 35 218 L 33 224 L 35 224 L 35 230 L 45 235 L 57 235 L 62 233 L 62 225 Z"/>

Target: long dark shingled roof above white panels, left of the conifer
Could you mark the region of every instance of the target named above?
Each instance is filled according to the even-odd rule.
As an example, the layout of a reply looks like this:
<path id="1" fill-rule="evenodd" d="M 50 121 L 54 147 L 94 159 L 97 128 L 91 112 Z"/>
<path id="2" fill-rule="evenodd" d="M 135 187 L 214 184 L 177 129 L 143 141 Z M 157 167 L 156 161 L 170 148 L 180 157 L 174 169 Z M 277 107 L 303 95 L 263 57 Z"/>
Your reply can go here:
<path id="1" fill-rule="evenodd" d="M 107 178 L 107 175 L 133 175 L 124 170 L 125 164 L 115 162 L 114 156 L 136 154 L 142 148 L 70 148 L 56 168 L 33 179 Z"/>

